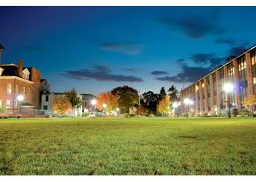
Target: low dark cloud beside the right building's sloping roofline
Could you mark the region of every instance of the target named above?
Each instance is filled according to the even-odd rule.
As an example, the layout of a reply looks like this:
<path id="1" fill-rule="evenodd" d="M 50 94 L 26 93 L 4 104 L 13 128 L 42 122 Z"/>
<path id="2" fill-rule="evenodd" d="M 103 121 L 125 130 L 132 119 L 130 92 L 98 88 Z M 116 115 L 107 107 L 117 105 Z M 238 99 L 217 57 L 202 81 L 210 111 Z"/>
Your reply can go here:
<path id="1" fill-rule="evenodd" d="M 176 76 L 159 77 L 157 80 L 174 82 L 174 83 L 190 83 L 195 82 L 203 75 L 208 74 L 209 69 L 203 67 L 190 67 L 187 65 L 182 66 L 182 72 Z"/>

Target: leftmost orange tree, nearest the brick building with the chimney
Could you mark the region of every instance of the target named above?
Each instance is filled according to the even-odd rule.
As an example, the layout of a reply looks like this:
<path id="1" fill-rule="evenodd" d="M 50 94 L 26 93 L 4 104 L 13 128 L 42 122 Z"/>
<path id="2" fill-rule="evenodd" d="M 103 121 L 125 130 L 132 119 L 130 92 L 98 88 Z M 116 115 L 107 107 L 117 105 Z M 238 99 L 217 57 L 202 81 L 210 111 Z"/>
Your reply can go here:
<path id="1" fill-rule="evenodd" d="M 66 95 L 53 98 L 52 100 L 53 113 L 54 114 L 66 114 L 72 108 Z"/>

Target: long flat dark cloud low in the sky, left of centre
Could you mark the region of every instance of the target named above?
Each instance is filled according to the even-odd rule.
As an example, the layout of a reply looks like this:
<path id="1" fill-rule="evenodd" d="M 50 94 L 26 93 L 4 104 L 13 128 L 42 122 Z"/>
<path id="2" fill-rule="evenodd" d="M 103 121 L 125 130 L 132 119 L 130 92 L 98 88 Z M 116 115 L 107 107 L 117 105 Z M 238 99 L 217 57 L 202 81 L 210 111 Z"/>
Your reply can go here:
<path id="1" fill-rule="evenodd" d="M 113 74 L 110 68 L 105 66 L 94 66 L 94 69 L 80 69 L 77 71 L 65 71 L 64 74 L 69 79 L 89 80 L 95 79 L 102 82 L 143 82 L 143 79 L 135 76 Z"/>

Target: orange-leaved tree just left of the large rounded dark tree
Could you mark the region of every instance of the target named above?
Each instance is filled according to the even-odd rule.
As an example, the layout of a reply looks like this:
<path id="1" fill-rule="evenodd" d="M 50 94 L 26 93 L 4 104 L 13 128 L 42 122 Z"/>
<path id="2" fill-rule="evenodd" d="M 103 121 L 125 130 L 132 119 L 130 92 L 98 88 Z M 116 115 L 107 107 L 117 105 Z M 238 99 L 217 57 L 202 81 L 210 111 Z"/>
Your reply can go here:
<path id="1" fill-rule="evenodd" d="M 99 110 L 103 109 L 104 103 L 107 105 L 107 107 L 105 108 L 106 111 L 110 111 L 110 110 L 113 110 L 114 108 L 118 107 L 117 98 L 112 93 L 102 92 L 98 95 L 97 108 Z"/>

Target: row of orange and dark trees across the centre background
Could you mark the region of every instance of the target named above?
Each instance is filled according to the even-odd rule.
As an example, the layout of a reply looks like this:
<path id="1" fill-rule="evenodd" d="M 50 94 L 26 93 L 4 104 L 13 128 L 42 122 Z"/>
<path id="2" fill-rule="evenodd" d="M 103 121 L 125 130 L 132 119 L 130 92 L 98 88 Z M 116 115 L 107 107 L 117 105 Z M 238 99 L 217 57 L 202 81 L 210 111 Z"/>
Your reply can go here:
<path id="1" fill-rule="evenodd" d="M 171 101 L 177 99 L 178 90 L 173 85 L 165 92 L 162 87 L 159 93 L 152 91 L 139 95 L 138 90 L 132 87 L 116 87 L 111 92 L 102 92 L 98 95 L 97 108 L 106 111 L 120 108 L 121 113 L 128 113 L 129 108 L 136 107 L 138 114 L 167 114 L 170 111 Z"/>

